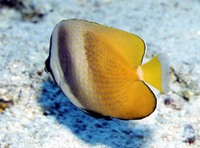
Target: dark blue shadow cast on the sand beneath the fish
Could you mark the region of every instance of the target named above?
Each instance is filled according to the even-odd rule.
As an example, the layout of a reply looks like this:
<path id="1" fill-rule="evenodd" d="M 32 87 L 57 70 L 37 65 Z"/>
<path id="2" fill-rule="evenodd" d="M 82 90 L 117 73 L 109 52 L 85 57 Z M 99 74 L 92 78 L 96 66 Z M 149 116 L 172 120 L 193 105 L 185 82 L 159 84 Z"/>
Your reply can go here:
<path id="1" fill-rule="evenodd" d="M 52 81 L 45 81 L 38 103 L 45 116 L 53 116 L 78 138 L 95 146 L 145 147 L 151 131 L 130 121 L 95 119 L 75 107 Z"/>

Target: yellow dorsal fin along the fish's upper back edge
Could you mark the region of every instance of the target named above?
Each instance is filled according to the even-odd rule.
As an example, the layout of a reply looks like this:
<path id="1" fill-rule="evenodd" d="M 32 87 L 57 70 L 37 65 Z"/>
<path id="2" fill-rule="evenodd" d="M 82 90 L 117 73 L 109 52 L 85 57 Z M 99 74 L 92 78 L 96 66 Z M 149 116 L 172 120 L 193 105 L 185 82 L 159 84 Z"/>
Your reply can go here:
<path id="1" fill-rule="evenodd" d="M 123 56 L 132 67 L 137 67 L 142 63 L 145 43 L 137 35 L 84 20 L 69 21 L 71 21 L 72 26 L 73 24 L 78 24 L 83 27 L 83 31 L 95 33 L 99 40 L 112 46 L 111 48 Z"/>

